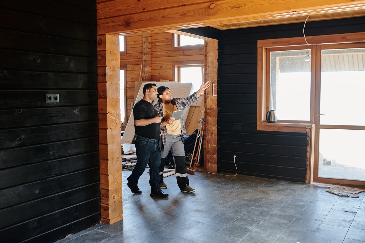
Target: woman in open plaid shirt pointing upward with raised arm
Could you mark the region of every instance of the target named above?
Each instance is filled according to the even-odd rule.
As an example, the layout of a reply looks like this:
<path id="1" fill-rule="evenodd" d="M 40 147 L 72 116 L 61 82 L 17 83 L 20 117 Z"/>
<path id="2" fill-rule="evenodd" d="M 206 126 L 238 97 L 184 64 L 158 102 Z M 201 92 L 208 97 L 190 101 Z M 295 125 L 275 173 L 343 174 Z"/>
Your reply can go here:
<path id="1" fill-rule="evenodd" d="M 157 114 L 162 116 L 160 124 L 162 129 L 162 142 L 164 144 L 164 151 L 162 151 L 161 154 L 160 188 L 167 188 L 167 185 L 164 183 L 163 174 L 166 157 L 171 150 L 175 161 L 176 181 L 178 187 L 182 192 L 195 192 L 195 189 L 192 189 L 189 186 L 189 178 L 186 172 L 184 138 L 187 134 L 185 121 L 183 115 L 180 116 L 180 119 L 175 120 L 175 118 L 171 118 L 171 114 L 174 111 L 182 110 L 195 103 L 201 92 L 207 89 L 209 85 L 210 81 L 201 84 L 200 89 L 186 98 L 172 98 L 170 89 L 166 86 L 160 86 L 157 89 L 158 102 L 154 105 L 154 108 L 156 109 Z"/>

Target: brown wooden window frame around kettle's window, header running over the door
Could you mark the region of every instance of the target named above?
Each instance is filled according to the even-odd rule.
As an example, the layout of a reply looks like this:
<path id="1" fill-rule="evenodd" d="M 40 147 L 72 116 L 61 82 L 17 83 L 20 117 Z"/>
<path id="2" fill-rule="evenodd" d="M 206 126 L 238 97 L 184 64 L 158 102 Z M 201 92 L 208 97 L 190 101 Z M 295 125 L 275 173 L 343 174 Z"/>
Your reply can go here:
<path id="1" fill-rule="evenodd" d="M 266 122 L 266 112 L 269 110 L 269 87 L 270 87 L 270 52 L 269 50 L 294 50 L 307 49 L 308 45 L 304 42 L 303 37 L 268 39 L 257 41 L 257 130 L 261 131 L 282 131 L 282 132 L 301 132 L 305 133 L 307 127 L 314 127 L 315 123 L 315 93 L 318 82 L 316 78 L 320 76 L 316 72 L 320 65 L 317 65 L 316 59 L 320 53 L 316 53 L 317 45 L 326 45 L 333 43 L 356 43 L 365 42 L 365 32 L 307 36 L 307 42 L 310 43 L 311 49 L 311 107 L 310 122 L 303 121 L 284 121 L 278 123 Z M 319 66 L 319 67 L 318 67 Z"/>

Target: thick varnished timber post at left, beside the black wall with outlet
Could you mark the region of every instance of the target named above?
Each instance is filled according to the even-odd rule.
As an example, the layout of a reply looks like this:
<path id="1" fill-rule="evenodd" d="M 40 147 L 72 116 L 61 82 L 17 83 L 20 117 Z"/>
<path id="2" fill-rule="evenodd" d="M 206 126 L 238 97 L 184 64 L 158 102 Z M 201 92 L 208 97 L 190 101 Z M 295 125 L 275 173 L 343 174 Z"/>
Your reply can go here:
<path id="1" fill-rule="evenodd" d="M 106 224 L 123 219 L 118 42 L 115 35 L 99 35 L 97 42 L 101 223 Z"/>

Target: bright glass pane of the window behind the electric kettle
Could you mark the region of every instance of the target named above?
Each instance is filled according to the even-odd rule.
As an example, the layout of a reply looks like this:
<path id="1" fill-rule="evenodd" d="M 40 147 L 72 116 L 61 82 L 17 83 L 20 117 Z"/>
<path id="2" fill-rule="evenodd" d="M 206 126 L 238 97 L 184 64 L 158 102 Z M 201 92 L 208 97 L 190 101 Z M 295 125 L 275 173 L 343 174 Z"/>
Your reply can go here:
<path id="1" fill-rule="evenodd" d="M 269 49 L 269 53 L 269 109 L 280 120 L 309 122 L 311 63 L 304 61 L 306 49 Z"/>

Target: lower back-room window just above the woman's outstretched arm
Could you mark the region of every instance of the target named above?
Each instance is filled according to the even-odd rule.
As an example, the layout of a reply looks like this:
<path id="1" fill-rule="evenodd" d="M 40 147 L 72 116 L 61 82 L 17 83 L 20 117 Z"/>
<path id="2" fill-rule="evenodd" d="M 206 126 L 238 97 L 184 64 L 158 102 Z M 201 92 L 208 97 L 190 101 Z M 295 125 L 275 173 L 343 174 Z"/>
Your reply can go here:
<path id="1" fill-rule="evenodd" d="M 203 83 L 203 64 L 200 65 L 176 65 L 175 80 L 181 83 L 192 83 L 192 92 L 197 91 Z"/>

